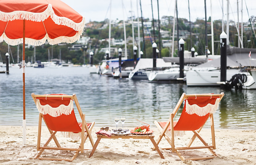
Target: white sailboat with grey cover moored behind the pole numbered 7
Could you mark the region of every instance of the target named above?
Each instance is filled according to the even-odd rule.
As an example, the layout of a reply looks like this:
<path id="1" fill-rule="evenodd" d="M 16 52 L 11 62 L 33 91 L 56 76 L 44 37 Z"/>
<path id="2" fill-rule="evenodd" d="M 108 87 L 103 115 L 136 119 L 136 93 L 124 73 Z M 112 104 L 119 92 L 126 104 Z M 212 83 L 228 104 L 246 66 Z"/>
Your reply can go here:
<path id="1" fill-rule="evenodd" d="M 229 1 L 227 2 L 229 5 Z M 228 6 L 227 5 L 227 6 Z M 227 14 L 227 18 L 228 18 Z M 228 34 L 228 21 L 227 21 L 227 34 Z M 227 35 L 227 43 L 228 43 Z M 256 49 L 246 49 L 239 47 L 231 47 L 227 44 L 227 70 L 226 70 L 226 80 L 230 80 L 235 74 L 245 74 L 247 77 L 247 83 L 245 88 L 251 88 L 250 86 L 254 83 L 251 81 L 252 76 L 248 73 L 244 67 L 256 66 L 256 62 L 251 62 L 248 57 L 249 52 L 256 53 Z M 223 84 L 220 81 L 220 58 L 201 64 L 187 71 L 186 82 L 188 86 L 209 86 L 215 85 L 219 86 Z"/>

